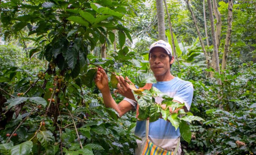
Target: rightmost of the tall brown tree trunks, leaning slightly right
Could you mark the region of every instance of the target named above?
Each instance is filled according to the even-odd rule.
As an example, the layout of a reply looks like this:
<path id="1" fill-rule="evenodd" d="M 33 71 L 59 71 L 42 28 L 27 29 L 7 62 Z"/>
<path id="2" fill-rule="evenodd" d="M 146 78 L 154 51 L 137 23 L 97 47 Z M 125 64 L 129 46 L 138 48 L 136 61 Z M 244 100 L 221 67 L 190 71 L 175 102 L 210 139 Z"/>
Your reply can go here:
<path id="1" fill-rule="evenodd" d="M 227 64 L 227 59 L 228 59 L 228 48 L 229 48 L 229 42 L 231 38 L 231 31 L 232 31 L 232 9 L 233 9 L 233 0 L 228 0 L 228 30 L 226 34 L 226 40 L 225 40 L 225 48 L 224 48 L 224 53 L 222 57 L 222 65 L 221 65 L 221 70 L 225 70 L 226 64 Z"/>

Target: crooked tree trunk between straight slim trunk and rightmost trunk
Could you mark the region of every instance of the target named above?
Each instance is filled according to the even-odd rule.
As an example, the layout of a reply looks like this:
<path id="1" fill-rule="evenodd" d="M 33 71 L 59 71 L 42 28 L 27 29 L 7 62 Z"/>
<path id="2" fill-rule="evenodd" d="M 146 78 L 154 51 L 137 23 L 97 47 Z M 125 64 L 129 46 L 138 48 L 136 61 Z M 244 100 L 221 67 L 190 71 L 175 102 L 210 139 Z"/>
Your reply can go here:
<path id="1" fill-rule="evenodd" d="M 216 43 L 217 43 L 217 47 L 219 48 L 219 46 L 220 46 L 220 33 L 221 33 L 221 14 L 220 14 L 220 11 L 218 10 L 216 0 L 213 0 L 213 7 L 214 7 L 214 15 L 217 19 L 217 23 L 216 23 Z"/>

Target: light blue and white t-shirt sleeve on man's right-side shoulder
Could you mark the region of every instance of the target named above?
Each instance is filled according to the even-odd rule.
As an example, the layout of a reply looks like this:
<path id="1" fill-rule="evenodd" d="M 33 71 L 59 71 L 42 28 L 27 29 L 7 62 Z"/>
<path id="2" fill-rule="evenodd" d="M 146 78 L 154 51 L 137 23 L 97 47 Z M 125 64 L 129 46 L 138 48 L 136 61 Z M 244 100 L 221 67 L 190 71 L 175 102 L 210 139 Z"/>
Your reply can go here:
<path id="1" fill-rule="evenodd" d="M 173 100 L 185 103 L 185 112 L 188 112 L 192 103 L 194 88 L 192 83 L 183 85 L 176 94 L 173 96 Z"/>

